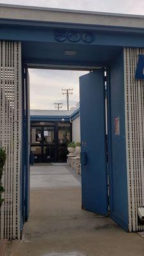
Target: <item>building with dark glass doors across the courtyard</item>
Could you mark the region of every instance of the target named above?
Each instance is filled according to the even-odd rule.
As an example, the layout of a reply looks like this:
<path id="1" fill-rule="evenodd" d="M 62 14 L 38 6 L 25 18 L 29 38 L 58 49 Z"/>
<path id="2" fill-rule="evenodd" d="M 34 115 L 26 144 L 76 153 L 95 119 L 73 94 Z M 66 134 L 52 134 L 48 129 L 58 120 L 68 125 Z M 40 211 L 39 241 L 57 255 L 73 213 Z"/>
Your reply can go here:
<path id="1" fill-rule="evenodd" d="M 34 163 L 67 162 L 67 145 L 80 141 L 79 108 L 74 111 L 31 110 Z"/>

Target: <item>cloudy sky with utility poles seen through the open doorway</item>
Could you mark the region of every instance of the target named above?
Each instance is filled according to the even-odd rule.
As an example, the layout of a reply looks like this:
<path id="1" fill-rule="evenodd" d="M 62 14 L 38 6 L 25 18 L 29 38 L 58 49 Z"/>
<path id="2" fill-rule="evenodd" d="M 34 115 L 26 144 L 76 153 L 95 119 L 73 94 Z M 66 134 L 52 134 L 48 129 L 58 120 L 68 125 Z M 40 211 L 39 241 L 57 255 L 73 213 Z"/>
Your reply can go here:
<path id="1" fill-rule="evenodd" d="M 67 70 L 36 70 L 30 69 L 31 109 L 56 109 L 54 102 L 62 102 L 67 109 L 66 95 L 61 89 L 73 88 L 70 95 L 70 107 L 79 102 L 79 76 L 88 72 Z"/>

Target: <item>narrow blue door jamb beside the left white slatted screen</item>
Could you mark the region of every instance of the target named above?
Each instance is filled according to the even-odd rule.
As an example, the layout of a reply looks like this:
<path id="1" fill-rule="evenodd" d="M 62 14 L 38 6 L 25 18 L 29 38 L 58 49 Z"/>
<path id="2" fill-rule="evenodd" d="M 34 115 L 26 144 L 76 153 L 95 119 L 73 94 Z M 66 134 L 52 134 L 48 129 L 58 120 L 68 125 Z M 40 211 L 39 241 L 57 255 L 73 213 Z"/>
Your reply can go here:
<path id="1" fill-rule="evenodd" d="M 29 216 L 29 83 L 28 67 L 22 66 L 22 168 L 20 178 L 20 230 Z"/>

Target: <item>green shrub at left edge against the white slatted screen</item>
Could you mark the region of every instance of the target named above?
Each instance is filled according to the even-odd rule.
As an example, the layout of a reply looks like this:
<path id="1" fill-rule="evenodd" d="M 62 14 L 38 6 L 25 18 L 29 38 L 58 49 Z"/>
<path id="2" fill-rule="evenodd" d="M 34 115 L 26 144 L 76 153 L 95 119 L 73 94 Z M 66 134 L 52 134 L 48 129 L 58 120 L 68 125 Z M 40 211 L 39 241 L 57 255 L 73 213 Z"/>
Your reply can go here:
<path id="1" fill-rule="evenodd" d="M 4 188 L 2 186 L 2 176 L 3 176 L 3 167 L 6 161 L 6 151 L 3 148 L 0 148 L 0 207 L 3 204 L 4 199 L 2 198 L 2 193 L 4 192 Z"/>

